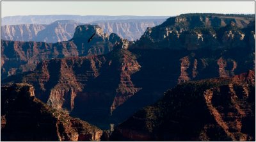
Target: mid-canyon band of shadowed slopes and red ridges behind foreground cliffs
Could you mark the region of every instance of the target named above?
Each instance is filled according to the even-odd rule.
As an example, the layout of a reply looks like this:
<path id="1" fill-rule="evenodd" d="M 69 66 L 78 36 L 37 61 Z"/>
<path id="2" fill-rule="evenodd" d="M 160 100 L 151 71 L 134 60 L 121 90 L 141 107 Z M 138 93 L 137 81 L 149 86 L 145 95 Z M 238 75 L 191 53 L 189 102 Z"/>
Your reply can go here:
<path id="1" fill-rule="evenodd" d="M 177 83 L 254 68 L 250 50 L 129 51 L 127 44 L 123 40 L 105 55 L 42 61 L 33 72 L 13 75 L 2 83 L 33 84 L 36 97 L 49 106 L 66 108 L 106 129 L 109 123 L 120 123 L 156 102 Z"/>

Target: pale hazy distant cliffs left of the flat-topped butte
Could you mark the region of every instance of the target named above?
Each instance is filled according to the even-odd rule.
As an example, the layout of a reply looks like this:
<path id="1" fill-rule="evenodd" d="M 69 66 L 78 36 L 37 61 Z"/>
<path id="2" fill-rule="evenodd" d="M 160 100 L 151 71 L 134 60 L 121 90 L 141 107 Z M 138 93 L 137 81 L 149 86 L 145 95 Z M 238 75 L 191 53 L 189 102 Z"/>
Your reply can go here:
<path id="1" fill-rule="evenodd" d="M 57 20 L 49 25 L 21 24 L 1 26 L 1 40 L 21 42 L 63 42 L 70 40 L 76 26 L 81 23 L 74 20 Z"/>

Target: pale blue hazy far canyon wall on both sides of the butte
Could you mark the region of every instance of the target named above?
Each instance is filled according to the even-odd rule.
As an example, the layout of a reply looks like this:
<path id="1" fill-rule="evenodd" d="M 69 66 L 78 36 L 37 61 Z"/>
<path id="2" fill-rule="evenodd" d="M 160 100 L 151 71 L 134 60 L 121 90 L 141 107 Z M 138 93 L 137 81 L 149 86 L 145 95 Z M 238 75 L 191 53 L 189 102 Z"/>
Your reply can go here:
<path id="1" fill-rule="evenodd" d="M 99 25 L 104 33 L 116 33 L 121 38 L 138 40 L 148 27 L 154 27 L 165 19 L 106 20 L 90 22 Z M 76 26 L 83 23 L 74 20 L 57 20 L 51 24 L 16 24 L 1 26 L 1 39 L 23 42 L 63 42 L 70 40 Z"/>

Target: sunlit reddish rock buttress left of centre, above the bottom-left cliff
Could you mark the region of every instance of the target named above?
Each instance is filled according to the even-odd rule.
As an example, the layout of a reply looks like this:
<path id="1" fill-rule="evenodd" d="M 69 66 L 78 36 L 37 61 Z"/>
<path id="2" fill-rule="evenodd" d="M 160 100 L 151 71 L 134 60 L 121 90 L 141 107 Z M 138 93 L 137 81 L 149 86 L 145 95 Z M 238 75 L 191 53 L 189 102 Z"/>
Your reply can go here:
<path id="1" fill-rule="evenodd" d="M 77 92 L 83 90 L 88 78 L 99 75 L 98 70 L 102 64 L 101 60 L 90 56 L 88 58 L 43 61 L 36 68 L 35 74 L 27 75 L 22 81 L 38 84 L 36 86 L 38 98 L 44 100 L 49 106 L 54 109 L 63 107 L 68 111 L 72 111 L 75 106 L 74 99 L 77 96 Z M 84 74 L 77 75 L 77 73 L 81 72 L 79 68 L 84 68 Z"/>

